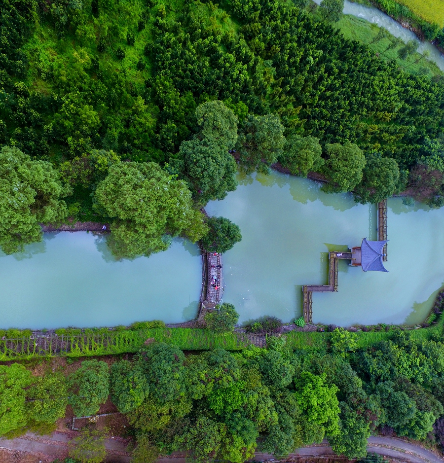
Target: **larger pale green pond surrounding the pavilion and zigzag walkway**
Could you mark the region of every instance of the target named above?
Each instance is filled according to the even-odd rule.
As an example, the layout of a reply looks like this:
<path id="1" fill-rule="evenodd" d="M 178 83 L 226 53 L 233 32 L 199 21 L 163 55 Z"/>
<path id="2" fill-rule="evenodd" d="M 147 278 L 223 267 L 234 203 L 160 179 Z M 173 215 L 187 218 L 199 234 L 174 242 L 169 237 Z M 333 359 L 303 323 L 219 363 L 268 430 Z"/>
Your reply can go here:
<path id="1" fill-rule="evenodd" d="M 325 194 L 310 180 L 273 173 L 244 178 L 206 211 L 237 223 L 243 239 L 223 255 L 224 300 L 240 321 L 302 313 L 302 285 L 327 283 L 328 251 L 376 237 L 376 208 L 348 194 Z M 390 273 L 340 262 L 337 293 L 313 293 L 313 321 L 421 322 L 444 282 L 444 208 L 388 201 Z"/>

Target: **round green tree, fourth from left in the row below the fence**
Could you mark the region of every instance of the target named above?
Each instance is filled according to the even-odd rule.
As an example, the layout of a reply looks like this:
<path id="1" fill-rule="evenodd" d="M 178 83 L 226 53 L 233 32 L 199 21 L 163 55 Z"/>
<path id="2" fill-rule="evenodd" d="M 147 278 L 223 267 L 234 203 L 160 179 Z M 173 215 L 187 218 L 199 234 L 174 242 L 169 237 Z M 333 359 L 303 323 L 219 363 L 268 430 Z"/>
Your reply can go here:
<path id="1" fill-rule="evenodd" d="M 111 399 L 117 409 L 128 413 L 148 397 L 149 388 L 143 371 L 128 360 L 111 365 Z"/>

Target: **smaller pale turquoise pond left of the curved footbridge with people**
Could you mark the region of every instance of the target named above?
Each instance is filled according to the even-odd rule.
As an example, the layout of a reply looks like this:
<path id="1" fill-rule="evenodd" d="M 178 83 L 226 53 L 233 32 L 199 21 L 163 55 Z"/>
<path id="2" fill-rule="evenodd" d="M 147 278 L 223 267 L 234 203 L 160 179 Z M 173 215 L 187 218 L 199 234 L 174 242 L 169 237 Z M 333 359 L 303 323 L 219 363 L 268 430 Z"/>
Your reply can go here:
<path id="1" fill-rule="evenodd" d="M 116 261 L 106 238 L 45 233 L 25 252 L 0 253 L 1 327 L 57 328 L 179 323 L 196 318 L 202 264 L 196 245 Z"/>

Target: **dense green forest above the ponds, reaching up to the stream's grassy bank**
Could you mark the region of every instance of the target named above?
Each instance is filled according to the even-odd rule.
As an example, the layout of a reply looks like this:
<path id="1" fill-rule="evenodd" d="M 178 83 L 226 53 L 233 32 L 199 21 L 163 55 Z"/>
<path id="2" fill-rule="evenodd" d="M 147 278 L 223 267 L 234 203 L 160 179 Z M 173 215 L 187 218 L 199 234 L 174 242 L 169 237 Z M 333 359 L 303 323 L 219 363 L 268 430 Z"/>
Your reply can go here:
<path id="1" fill-rule="evenodd" d="M 276 161 L 361 202 L 406 191 L 441 206 L 443 79 L 399 69 L 298 4 L 0 0 L 0 144 L 52 169 L 52 213 L 24 217 L 111 222 L 114 252 L 149 254 L 166 235 L 205 235 L 197 211 L 236 188 L 236 163 Z M 130 226 L 105 206 L 125 164 L 187 188 L 188 223 L 152 227 L 138 209 Z M 16 224 L 0 215 L 3 243 Z M 27 220 L 4 251 L 39 239 Z"/>

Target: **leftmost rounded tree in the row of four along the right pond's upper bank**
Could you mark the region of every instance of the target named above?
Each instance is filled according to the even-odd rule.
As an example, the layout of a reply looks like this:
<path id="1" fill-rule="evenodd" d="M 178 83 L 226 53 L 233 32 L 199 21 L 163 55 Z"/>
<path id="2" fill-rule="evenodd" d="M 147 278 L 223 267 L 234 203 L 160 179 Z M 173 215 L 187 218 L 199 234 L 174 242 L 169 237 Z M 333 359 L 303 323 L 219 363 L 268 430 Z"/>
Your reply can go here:
<path id="1" fill-rule="evenodd" d="M 236 150 L 247 173 L 255 170 L 267 173 L 284 144 L 284 126 L 278 116 L 249 114 L 240 130 Z"/>

